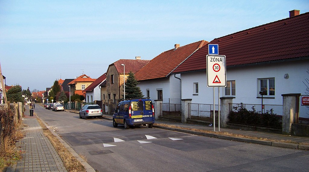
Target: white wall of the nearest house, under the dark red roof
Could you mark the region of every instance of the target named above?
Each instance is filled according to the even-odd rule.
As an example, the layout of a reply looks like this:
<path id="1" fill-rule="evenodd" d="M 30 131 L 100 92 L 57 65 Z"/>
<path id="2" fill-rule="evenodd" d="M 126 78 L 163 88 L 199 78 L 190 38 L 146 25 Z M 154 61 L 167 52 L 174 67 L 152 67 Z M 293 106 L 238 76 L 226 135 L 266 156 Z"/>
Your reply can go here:
<path id="1" fill-rule="evenodd" d="M 247 65 L 226 69 L 226 80 L 235 80 L 235 97 L 233 103 L 260 104 L 260 78 L 275 78 L 275 96 L 263 97 L 263 104 L 282 105 L 281 94 L 305 94 L 306 86 L 303 83 L 309 78 L 309 60 L 296 60 L 287 62 L 268 63 L 260 65 Z M 285 74 L 288 79 L 284 78 Z M 213 88 L 207 87 L 206 71 L 181 73 L 182 99 L 192 99 L 192 103 L 212 104 Z M 198 82 L 199 93 L 193 95 L 194 85 Z M 220 89 L 220 97 L 225 97 L 225 88 Z M 271 97 L 271 96 L 269 96 Z M 218 103 L 218 88 L 215 88 L 215 101 Z"/>

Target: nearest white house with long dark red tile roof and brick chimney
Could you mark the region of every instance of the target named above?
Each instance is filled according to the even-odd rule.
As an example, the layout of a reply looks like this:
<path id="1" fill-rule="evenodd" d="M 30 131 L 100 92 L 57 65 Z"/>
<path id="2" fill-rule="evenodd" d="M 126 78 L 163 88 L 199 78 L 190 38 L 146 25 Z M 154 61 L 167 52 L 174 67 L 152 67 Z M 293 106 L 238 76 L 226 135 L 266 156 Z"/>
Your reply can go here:
<path id="1" fill-rule="evenodd" d="M 299 10 L 292 10 L 289 18 L 210 41 L 218 44 L 219 55 L 226 56 L 227 86 L 220 87 L 221 97 L 234 97 L 233 103 L 260 104 L 259 92 L 265 90 L 263 104 L 282 105 L 281 94 L 305 94 L 308 28 L 309 12 L 299 15 Z M 213 103 L 213 88 L 207 87 L 207 54 L 204 46 L 172 71 L 180 74 L 182 99 Z"/>

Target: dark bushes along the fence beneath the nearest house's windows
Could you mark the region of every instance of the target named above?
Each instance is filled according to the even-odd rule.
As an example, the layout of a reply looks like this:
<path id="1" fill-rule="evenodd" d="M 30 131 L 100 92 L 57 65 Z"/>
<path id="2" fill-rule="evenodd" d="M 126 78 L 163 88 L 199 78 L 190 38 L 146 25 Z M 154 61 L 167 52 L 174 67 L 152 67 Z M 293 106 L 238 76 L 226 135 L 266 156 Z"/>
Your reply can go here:
<path id="1" fill-rule="evenodd" d="M 247 106 L 248 108 L 248 106 Z M 265 113 L 256 111 L 255 106 L 252 106 L 252 110 L 248 110 L 245 104 L 240 103 L 237 106 L 233 106 L 229 114 L 229 120 L 231 122 L 240 124 L 250 124 L 265 127 L 282 127 L 282 119 L 279 115 L 273 112 L 273 109 L 267 110 Z"/>

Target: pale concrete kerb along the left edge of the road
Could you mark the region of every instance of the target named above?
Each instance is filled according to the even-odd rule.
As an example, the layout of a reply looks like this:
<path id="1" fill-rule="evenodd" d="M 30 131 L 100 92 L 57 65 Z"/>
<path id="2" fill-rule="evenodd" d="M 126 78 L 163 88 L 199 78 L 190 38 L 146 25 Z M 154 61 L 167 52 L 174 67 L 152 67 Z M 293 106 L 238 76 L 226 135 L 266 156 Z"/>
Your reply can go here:
<path id="1" fill-rule="evenodd" d="M 39 116 L 37 116 L 36 115 L 36 117 L 37 118 L 39 118 L 40 119 L 40 117 Z M 40 119 L 41 120 L 41 119 Z M 50 128 L 49 127 L 49 125 L 47 125 L 43 120 L 41 120 L 41 122 L 46 126 L 46 128 L 48 128 L 49 129 L 49 131 L 54 135 L 54 136 L 56 136 L 57 137 L 57 139 L 60 141 L 60 143 L 66 148 L 66 149 L 68 149 L 68 151 L 70 152 L 70 153 L 72 153 L 72 155 L 84 166 L 84 168 L 86 169 L 86 171 L 87 172 L 95 172 L 95 169 L 93 169 L 87 162 L 85 162 L 84 160 L 83 160 L 83 158 L 81 158 L 65 141 L 63 141 L 62 139 L 61 139 L 61 137 L 59 137 L 58 135 L 57 135 L 57 133 L 55 132 L 55 131 L 53 131 L 53 129 L 52 128 Z"/>

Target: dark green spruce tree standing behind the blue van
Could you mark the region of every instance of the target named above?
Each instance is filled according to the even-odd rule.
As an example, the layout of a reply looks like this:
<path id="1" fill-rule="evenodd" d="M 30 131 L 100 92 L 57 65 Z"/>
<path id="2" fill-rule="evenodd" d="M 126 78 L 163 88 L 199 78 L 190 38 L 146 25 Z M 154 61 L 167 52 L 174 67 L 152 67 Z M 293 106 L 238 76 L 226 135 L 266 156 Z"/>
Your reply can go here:
<path id="1" fill-rule="evenodd" d="M 141 89 L 137 86 L 138 83 L 139 82 L 135 79 L 134 73 L 130 71 L 125 82 L 125 98 L 132 99 L 144 97 Z"/>

